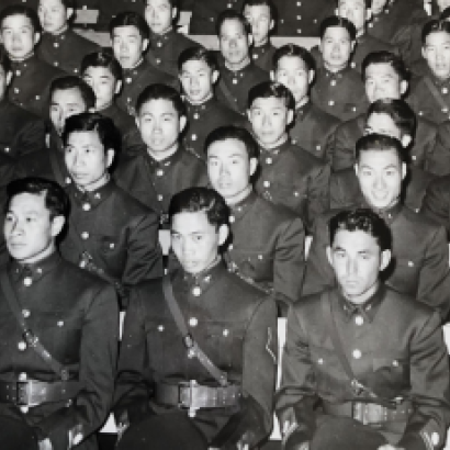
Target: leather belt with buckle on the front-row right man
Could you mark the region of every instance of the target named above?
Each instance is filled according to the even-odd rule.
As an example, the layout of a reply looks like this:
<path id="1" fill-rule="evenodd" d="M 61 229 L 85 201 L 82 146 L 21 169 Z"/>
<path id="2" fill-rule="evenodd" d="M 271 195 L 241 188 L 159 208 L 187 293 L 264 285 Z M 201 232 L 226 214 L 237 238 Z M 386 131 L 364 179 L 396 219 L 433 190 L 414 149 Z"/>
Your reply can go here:
<path id="1" fill-rule="evenodd" d="M 346 402 L 335 405 L 324 402 L 324 410 L 333 416 L 352 417 L 364 425 L 370 425 L 407 420 L 413 407 L 410 402 L 402 402 L 392 409 L 376 403 Z"/>

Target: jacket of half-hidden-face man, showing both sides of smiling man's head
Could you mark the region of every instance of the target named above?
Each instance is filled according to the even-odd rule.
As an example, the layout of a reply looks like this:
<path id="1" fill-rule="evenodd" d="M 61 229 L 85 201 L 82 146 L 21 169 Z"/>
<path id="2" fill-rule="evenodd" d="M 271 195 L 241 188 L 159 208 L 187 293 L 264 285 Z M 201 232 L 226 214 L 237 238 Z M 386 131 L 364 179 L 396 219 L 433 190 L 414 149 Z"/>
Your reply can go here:
<path id="1" fill-rule="evenodd" d="M 357 140 L 364 134 L 367 114 L 344 122 L 336 128 L 335 151 L 331 159 L 334 171 L 355 165 Z M 416 136 L 409 149 L 410 162 L 429 172 L 436 173 L 442 162 L 442 156 L 435 151 L 437 127 L 428 120 L 417 116 Z"/>

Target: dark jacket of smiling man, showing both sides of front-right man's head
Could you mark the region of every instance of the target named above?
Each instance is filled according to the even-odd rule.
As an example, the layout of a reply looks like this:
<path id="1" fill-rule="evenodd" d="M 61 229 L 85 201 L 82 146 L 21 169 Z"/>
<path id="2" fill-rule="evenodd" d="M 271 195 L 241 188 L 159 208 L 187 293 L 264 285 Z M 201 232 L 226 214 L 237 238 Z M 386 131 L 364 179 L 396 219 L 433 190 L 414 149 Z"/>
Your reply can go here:
<path id="1" fill-rule="evenodd" d="M 367 204 L 359 204 L 368 207 Z M 355 205 L 353 205 L 355 206 Z M 317 218 L 313 243 L 306 261 L 303 283 L 304 295 L 335 286 L 335 274 L 328 263 L 328 221 L 339 210 L 329 211 Z M 391 210 L 376 212 L 392 233 L 392 263 L 382 273 L 386 284 L 397 292 L 428 303 L 446 320 L 450 310 L 449 248 L 443 226 L 400 203 Z"/>

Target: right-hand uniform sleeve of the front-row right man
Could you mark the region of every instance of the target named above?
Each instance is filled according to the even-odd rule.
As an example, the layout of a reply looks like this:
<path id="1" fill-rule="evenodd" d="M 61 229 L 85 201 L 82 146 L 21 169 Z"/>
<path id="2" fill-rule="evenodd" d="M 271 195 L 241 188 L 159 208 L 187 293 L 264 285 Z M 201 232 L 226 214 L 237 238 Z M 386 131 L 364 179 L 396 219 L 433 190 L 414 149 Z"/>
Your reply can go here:
<path id="1" fill-rule="evenodd" d="M 410 397 L 415 407 L 398 447 L 442 449 L 450 424 L 450 380 L 438 314 L 432 314 L 413 335 L 409 356 Z"/>

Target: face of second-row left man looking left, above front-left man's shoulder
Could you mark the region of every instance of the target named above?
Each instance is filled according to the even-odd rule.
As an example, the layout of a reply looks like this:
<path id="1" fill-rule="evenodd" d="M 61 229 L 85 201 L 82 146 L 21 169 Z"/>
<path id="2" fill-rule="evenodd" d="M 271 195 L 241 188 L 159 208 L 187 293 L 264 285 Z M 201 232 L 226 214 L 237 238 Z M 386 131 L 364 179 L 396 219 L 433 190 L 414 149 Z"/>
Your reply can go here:
<path id="1" fill-rule="evenodd" d="M 105 151 L 97 132 L 70 133 L 64 151 L 66 167 L 74 182 L 88 191 L 104 183 L 113 156 L 114 150 Z"/>

